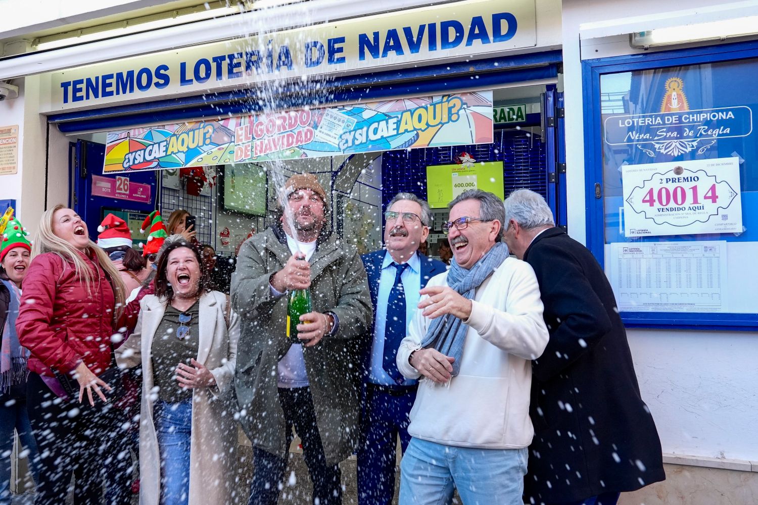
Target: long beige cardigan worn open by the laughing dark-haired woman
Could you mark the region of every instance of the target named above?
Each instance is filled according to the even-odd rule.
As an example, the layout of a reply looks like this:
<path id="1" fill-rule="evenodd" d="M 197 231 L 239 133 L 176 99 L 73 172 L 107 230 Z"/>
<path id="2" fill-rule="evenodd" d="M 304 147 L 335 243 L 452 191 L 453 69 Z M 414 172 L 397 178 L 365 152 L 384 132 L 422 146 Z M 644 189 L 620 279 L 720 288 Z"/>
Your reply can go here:
<path id="1" fill-rule="evenodd" d="M 196 360 L 216 379 L 216 386 L 193 391 L 192 435 L 189 448 L 189 505 L 237 503 L 237 423 L 232 387 L 240 319 L 230 312 L 227 296 L 218 291 L 202 295 L 199 307 L 199 349 Z M 121 366 L 142 365 L 143 394 L 139 424 L 139 503 L 158 505 L 161 496 L 161 458 L 153 424 L 152 339 L 165 312 L 155 295 L 147 295 L 134 333 L 118 349 Z"/>

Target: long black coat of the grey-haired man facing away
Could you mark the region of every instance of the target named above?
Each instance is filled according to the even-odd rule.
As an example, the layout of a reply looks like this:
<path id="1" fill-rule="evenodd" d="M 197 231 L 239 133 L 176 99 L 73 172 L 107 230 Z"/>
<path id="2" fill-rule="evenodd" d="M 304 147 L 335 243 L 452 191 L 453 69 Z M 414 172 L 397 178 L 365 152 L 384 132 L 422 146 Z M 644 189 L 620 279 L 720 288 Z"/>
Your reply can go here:
<path id="1" fill-rule="evenodd" d="M 666 479 L 658 432 L 600 264 L 559 228 L 538 235 L 524 260 L 537 274 L 550 331 L 532 364 L 535 433 L 525 502 L 583 500 Z"/>

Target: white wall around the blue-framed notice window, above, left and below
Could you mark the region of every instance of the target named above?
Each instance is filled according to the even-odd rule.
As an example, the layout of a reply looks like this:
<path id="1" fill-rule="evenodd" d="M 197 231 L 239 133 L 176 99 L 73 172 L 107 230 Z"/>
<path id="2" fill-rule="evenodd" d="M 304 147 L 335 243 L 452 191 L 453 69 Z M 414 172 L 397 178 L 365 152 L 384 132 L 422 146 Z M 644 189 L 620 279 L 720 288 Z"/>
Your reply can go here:
<path id="1" fill-rule="evenodd" d="M 674 26 L 682 23 L 687 13 L 697 14 L 709 7 L 715 11 L 701 16 L 700 22 L 733 5 L 716 0 L 564 0 L 566 175 L 572 237 L 586 242 L 581 57 L 632 52 L 625 37 L 588 40 L 582 33 L 602 29 L 612 33 L 612 26 L 622 24 L 630 32 L 646 30 L 650 23 L 666 18 Z M 687 11 L 670 17 L 666 14 L 683 9 Z M 584 39 L 584 54 L 580 38 Z M 758 334 L 748 332 L 628 331 L 642 395 L 656 419 L 664 453 L 758 460 L 756 337 Z"/>

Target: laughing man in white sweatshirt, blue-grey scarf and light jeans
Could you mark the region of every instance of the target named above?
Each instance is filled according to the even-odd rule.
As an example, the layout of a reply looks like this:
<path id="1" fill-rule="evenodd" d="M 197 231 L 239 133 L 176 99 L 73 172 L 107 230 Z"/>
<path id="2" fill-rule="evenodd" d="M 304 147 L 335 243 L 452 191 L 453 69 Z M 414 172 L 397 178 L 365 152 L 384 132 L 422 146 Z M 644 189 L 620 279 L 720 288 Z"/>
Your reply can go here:
<path id="1" fill-rule="evenodd" d="M 446 273 L 421 290 L 399 372 L 421 379 L 400 466 L 400 505 L 522 503 L 531 360 L 548 341 L 534 270 L 501 242 L 503 202 L 471 189 L 450 202 Z"/>

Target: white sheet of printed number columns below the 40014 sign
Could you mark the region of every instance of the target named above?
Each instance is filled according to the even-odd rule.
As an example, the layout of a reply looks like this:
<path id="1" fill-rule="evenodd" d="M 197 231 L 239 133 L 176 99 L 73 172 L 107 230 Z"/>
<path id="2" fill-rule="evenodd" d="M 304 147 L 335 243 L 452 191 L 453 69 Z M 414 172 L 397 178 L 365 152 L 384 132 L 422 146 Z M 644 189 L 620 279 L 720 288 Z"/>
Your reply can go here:
<path id="1" fill-rule="evenodd" d="M 726 242 L 611 244 L 619 310 L 719 312 L 727 307 Z"/>

